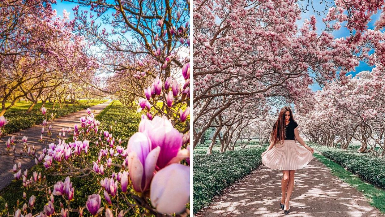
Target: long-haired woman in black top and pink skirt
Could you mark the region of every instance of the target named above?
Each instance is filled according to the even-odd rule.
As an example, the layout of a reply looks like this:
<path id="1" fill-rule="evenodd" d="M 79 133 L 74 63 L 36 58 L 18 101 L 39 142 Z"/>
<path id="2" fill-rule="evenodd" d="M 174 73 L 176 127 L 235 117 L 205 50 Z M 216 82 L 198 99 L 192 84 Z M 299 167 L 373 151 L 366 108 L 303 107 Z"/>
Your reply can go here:
<path id="1" fill-rule="evenodd" d="M 289 201 L 294 188 L 295 170 L 305 167 L 313 159 L 314 153 L 314 149 L 301 139 L 297 126 L 291 109 L 288 106 L 283 107 L 273 126 L 270 146 L 262 153 L 262 163 L 266 167 L 283 172 L 280 205 L 285 214 L 290 212 Z M 306 149 L 298 146 L 295 141 Z"/>

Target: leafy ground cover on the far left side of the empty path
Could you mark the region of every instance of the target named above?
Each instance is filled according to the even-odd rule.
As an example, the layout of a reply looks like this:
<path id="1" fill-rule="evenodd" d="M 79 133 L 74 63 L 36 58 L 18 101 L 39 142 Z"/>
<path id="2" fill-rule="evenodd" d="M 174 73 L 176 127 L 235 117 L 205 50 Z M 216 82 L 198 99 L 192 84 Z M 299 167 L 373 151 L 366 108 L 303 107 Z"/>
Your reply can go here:
<path id="1" fill-rule="evenodd" d="M 69 106 L 64 106 L 63 108 L 59 108 L 59 104 L 56 104 L 55 109 L 52 109 L 53 103 L 46 103 L 45 108 L 47 109 L 47 116 L 50 117 L 50 114 L 53 112 L 54 118 L 59 118 L 67 114 L 90 108 L 105 101 L 106 100 L 92 101 L 87 103 L 85 100 L 80 100 L 76 104 L 69 104 Z M 19 102 L 16 106 L 13 106 L 5 112 L 4 117 L 8 119 L 9 123 L 5 125 L 4 134 L 24 130 L 44 121 L 45 116 L 40 111 L 41 103 L 36 104 L 29 114 L 25 114 L 29 105 L 30 103 Z"/>

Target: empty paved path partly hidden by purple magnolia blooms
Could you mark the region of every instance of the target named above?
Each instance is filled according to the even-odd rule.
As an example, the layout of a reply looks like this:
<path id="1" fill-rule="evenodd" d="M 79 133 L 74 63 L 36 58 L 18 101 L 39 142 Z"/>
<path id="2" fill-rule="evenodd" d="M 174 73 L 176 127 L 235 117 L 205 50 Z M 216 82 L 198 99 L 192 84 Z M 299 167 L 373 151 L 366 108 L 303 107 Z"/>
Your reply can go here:
<path id="1" fill-rule="evenodd" d="M 111 101 L 107 101 L 95 106 L 91 107 L 91 111 L 94 112 L 95 114 L 100 113 L 105 107 L 107 107 Z M 69 128 L 71 127 L 72 133 L 74 130 L 74 125 L 77 123 L 80 125 L 80 118 L 82 116 L 88 116 L 86 110 L 81 110 L 72 114 L 68 114 L 66 116 L 63 116 L 61 118 L 57 118 L 54 120 L 54 123 L 52 124 L 52 133 L 53 135 L 57 135 L 58 132 L 62 131 L 62 128 Z M 51 122 L 50 122 L 51 124 Z M 36 125 L 34 127 L 19 131 L 17 133 L 13 133 L 11 135 L 7 135 L 3 137 L 3 140 L 8 140 L 8 137 L 15 136 L 15 140 L 19 138 L 19 141 L 23 138 L 23 136 L 28 136 L 28 145 L 32 147 L 32 145 L 35 146 L 36 152 L 38 155 L 43 152 L 44 147 L 48 146 L 49 143 L 51 142 L 45 142 L 45 144 L 42 144 L 40 142 L 40 135 L 41 135 L 41 130 L 43 128 L 43 125 Z M 45 128 L 47 132 L 47 128 Z M 5 144 L 2 142 L 0 144 L 1 149 L 5 147 Z M 22 144 L 17 143 L 16 149 L 17 151 L 20 150 L 20 147 L 22 147 Z M 4 148 L 5 149 L 5 148 Z M 24 172 L 25 169 L 31 168 L 33 165 L 35 165 L 35 160 L 31 160 L 28 158 L 24 159 L 17 159 L 13 161 L 13 156 L 4 156 L 0 155 L 0 190 L 3 189 L 5 186 L 7 186 L 13 179 L 13 165 L 15 163 L 21 162 L 22 163 L 22 172 Z M 28 178 L 30 177 L 31 174 L 28 174 Z"/>

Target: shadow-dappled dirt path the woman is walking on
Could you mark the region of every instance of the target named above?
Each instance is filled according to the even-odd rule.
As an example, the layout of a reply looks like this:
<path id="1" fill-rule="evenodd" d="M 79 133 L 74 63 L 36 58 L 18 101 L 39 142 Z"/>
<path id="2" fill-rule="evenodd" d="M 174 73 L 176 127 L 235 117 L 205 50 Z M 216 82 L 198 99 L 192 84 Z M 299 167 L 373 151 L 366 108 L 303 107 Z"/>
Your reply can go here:
<path id="1" fill-rule="evenodd" d="M 331 175 L 319 160 L 296 171 L 290 214 L 280 207 L 282 172 L 262 165 L 235 185 L 198 217 L 381 217 L 362 193 Z"/>

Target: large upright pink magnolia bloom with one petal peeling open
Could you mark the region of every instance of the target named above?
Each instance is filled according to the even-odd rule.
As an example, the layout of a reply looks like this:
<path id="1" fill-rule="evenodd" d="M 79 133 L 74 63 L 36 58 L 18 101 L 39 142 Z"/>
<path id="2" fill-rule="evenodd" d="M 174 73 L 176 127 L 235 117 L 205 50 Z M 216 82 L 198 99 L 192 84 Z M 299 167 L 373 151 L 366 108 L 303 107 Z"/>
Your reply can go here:
<path id="1" fill-rule="evenodd" d="M 148 136 L 138 132 L 129 139 L 127 151 L 132 186 L 137 192 L 144 192 L 151 183 L 160 148 L 151 150 L 151 141 Z"/>

